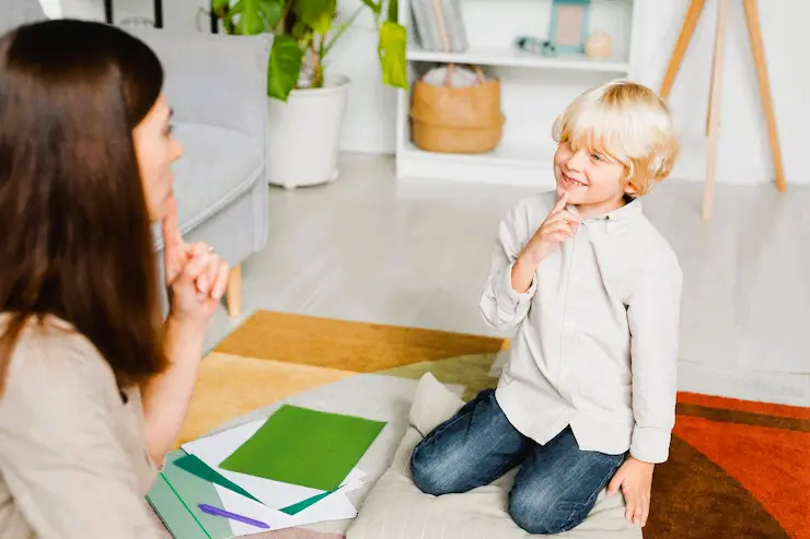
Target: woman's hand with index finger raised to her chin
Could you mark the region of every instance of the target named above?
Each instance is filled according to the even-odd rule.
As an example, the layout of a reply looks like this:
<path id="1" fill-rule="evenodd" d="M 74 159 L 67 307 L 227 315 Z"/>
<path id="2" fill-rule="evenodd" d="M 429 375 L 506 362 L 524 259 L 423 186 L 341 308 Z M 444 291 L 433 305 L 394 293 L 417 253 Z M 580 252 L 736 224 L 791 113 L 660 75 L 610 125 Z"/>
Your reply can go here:
<path id="1" fill-rule="evenodd" d="M 163 244 L 171 316 L 175 320 L 206 324 L 228 288 L 228 263 L 205 243 L 189 245 L 183 242 L 174 198 L 163 219 Z"/>

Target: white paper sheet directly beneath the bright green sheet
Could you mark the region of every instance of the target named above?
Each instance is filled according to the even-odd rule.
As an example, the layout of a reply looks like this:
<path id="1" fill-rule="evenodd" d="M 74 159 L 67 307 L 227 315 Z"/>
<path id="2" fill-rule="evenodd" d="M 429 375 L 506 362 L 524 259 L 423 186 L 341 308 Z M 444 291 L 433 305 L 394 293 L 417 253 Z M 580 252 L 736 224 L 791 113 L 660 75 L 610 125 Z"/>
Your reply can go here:
<path id="1" fill-rule="evenodd" d="M 300 487 L 297 484 L 282 483 L 279 481 L 273 481 L 270 479 L 248 476 L 246 473 L 223 470 L 219 467 L 220 462 L 222 462 L 251 436 L 253 436 L 266 421 L 266 419 L 252 421 L 235 429 L 230 429 L 228 431 L 223 431 L 211 436 L 206 436 L 193 442 L 188 442 L 186 444 L 183 444 L 182 447 L 183 450 L 185 450 L 186 453 L 195 455 L 205 464 L 221 473 L 224 478 L 233 481 L 234 483 L 250 492 L 252 495 L 256 496 L 256 499 L 258 499 L 263 504 L 267 506 L 265 508 L 281 509 L 289 505 L 306 500 L 308 497 L 312 497 L 314 495 L 323 493 L 324 491 L 321 490 L 310 489 L 308 487 Z M 345 487 L 347 492 L 359 489 L 360 487 L 362 487 L 363 477 L 366 477 L 366 473 L 363 473 L 360 469 L 355 468 L 346 477 L 346 479 L 342 483 L 342 487 Z M 239 497 L 244 497 L 240 494 L 235 495 Z M 346 496 L 344 495 L 344 497 Z M 322 503 L 323 502 L 319 502 L 315 505 L 321 505 Z M 309 508 L 306 511 L 309 511 Z M 285 513 L 281 514 L 285 516 L 289 516 Z"/>

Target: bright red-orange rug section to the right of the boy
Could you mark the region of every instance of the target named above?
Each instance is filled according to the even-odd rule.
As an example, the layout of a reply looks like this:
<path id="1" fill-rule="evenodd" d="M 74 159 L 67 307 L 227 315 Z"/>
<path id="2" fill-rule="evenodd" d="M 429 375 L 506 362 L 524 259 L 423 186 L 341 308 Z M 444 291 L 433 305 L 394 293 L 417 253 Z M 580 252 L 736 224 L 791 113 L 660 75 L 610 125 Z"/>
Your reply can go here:
<path id="1" fill-rule="evenodd" d="M 810 539 L 810 433 L 693 417 L 679 417 L 673 432 L 739 481 L 790 537 Z"/>

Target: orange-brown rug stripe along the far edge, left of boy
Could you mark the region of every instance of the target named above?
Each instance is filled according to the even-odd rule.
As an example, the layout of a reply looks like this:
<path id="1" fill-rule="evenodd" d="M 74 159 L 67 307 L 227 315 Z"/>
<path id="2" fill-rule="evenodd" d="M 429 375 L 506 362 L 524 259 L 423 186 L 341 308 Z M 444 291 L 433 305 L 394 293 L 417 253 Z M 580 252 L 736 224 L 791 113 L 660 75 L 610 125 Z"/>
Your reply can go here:
<path id="1" fill-rule="evenodd" d="M 357 373 L 494 353 L 506 339 L 258 310 L 218 352 Z"/>

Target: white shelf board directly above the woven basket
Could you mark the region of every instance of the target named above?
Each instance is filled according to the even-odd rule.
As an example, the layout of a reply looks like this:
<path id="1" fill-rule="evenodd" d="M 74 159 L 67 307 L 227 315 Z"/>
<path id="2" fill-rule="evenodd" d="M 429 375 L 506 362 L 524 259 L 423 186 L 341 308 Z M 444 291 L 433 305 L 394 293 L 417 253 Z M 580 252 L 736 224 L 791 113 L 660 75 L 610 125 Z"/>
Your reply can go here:
<path id="1" fill-rule="evenodd" d="M 478 66 L 502 66 L 531 69 L 562 69 L 571 71 L 598 71 L 627 73 L 629 63 L 612 60 L 593 60 L 585 55 L 545 57 L 517 48 L 471 47 L 463 52 L 423 50 L 410 46 L 407 59 L 443 63 L 472 63 Z"/>

